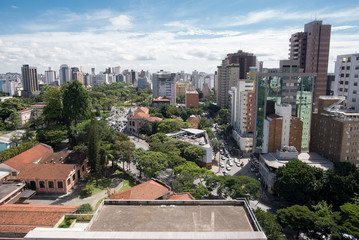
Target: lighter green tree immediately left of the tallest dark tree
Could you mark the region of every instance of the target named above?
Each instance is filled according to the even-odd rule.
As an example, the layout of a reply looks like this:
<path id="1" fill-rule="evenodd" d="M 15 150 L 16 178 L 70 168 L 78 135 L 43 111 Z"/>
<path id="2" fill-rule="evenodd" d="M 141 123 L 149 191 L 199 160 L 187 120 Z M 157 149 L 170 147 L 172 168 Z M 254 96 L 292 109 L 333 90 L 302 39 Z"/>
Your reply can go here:
<path id="1" fill-rule="evenodd" d="M 44 108 L 45 121 L 47 123 L 60 123 L 63 120 L 62 92 L 58 88 L 48 88 L 43 94 L 47 103 Z"/>

